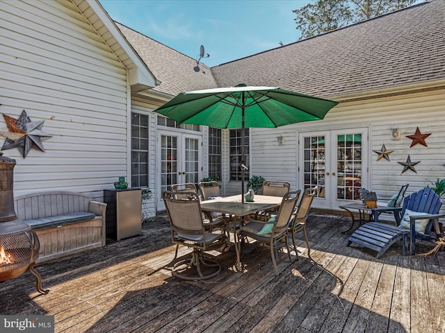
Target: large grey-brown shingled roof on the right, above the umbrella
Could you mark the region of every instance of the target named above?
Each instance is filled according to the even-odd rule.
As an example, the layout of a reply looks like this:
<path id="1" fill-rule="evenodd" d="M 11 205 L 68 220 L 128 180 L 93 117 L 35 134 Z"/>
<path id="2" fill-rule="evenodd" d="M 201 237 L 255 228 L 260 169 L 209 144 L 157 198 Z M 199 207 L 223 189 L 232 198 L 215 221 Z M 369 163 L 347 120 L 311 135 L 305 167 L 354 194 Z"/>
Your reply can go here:
<path id="1" fill-rule="evenodd" d="M 220 87 L 335 96 L 445 79 L 445 1 L 435 0 L 211 68 Z"/>

